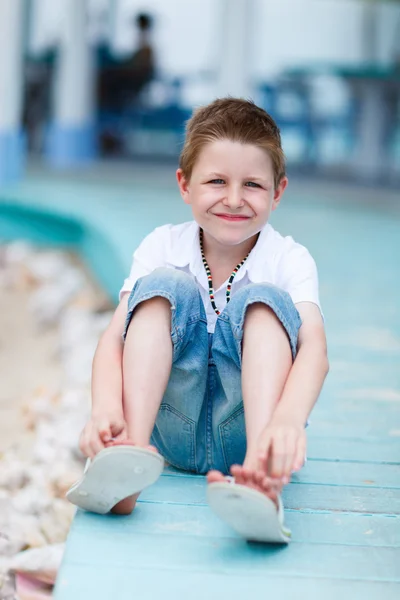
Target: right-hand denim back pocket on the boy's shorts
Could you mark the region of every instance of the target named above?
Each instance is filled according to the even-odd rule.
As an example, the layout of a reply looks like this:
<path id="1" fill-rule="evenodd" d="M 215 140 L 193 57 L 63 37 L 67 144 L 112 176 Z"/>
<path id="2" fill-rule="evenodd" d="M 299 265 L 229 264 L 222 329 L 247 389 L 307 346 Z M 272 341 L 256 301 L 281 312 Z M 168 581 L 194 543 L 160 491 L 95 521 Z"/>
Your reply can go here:
<path id="1" fill-rule="evenodd" d="M 246 455 L 246 427 L 243 404 L 221 423 L 219 435 L 226 472 L 228 473 L 232 465 L 242 465 Z"/>

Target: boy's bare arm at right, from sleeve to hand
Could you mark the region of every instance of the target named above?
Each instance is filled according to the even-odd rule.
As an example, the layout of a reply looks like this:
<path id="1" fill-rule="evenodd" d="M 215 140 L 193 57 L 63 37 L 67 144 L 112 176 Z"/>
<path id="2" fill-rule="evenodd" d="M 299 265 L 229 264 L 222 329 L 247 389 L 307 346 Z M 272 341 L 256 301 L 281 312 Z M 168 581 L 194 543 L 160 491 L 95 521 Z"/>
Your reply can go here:
<path id="1" fill-rule="evenodd" d="M 318 306 L 301 302 L 296 308 L 302 319 L 296 360 L 259 444 L 261 464 L 283 483 L 288 483 L 292 472 L 303 466 L 305 425 L 329 370 L 324 324 Z"/>

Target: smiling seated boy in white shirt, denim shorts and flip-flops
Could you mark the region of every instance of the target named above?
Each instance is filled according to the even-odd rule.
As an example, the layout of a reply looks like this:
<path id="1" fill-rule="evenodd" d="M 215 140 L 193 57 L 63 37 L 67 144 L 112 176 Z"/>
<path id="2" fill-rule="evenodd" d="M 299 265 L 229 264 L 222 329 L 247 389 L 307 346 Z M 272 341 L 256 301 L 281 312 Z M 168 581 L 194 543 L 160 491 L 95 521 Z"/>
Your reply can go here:
<path id="1" fill-rule="evenodd" d="M 288 182 L 275 122 L 235 98 L 200 108 L 177 180 L 194 221 L 134 253 L 93 362 L 80 447 L 96 458 L 68 496 L 130 513 L 165 457 L 208 473 L 211 507 L 244 537 L 288 541 L 280 492 L 328 360 L 315 263 L 268 224 Z"/>

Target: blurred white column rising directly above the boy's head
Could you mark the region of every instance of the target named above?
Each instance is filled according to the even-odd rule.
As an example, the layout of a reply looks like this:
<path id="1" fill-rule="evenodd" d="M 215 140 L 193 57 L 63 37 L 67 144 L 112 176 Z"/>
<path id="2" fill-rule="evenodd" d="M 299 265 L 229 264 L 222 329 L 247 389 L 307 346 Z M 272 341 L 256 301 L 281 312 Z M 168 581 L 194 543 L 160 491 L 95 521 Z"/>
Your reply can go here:
<path id="1" fill-rule="evenodd" d="M 221 0 L 219 21 L 220 74 L 217 96 L 249 98 L 251 25 L 254 18 L 254 0 Z"/>

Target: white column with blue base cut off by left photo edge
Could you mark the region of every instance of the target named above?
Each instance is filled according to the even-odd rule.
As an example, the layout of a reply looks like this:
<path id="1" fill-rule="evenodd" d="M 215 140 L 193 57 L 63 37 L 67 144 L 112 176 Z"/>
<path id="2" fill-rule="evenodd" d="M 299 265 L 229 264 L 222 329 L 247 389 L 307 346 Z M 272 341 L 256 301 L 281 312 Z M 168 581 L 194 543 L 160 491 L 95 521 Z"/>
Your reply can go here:
<path id="1" fill-rule="evenodd" d="M 24 0 L 0 0 L 0 185 L 20 178 Z"/>

